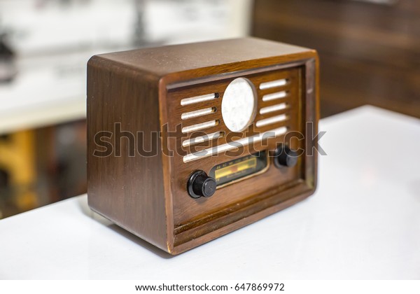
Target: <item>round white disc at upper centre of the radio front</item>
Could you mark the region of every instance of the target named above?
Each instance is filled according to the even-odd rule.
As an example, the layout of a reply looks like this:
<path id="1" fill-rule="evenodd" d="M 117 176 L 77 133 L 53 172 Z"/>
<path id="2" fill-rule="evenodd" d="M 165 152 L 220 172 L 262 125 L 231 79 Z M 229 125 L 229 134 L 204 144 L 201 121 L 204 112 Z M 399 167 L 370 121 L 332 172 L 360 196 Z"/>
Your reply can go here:
<path id="1" fill-rule="evenodd" d="M 255 117 L 257 99 L 255 87 L 246 78 L 236 78 L 223 94 L 222 116 L 226 127 L 232 132 L 241 132 Z"/>

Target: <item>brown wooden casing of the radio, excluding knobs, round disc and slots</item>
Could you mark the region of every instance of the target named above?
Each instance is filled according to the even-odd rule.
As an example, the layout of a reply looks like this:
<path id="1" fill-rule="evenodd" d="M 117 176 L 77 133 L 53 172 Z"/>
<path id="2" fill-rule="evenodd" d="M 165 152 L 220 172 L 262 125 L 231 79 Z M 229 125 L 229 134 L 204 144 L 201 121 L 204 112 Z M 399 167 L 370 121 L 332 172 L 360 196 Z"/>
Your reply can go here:
<path id="1" fill-rule="evenodd" d="M 193 150 L 225 144 L 248 137 L 245 132 L 229 137 L 221 116 L 221 102 L 228 84 L 243 77 L 255 85 L 258 109 L 279 102 L 262 102 L 262 95 L 288 91 L 281 102 L 286 109 L 261 115 L 254 122 L 286 113 L 288 120 L 254 127 L 251 134 L 287 126 L 305 134 L 306 122 L 318 122 L 318 57 L 314 50 L 293 45 L 242 38 L 225 41 L 172 45 L 127 52 L 97 55 L 87 69 L 88 199 L 90 207 L 121 227 L 172 254 L 178 254 L 232 230 L 258 221 L 286 208 L 316 188 L 316 154 L 304 155 L 292 168 L 278 169 L 269 158 L 268 169 L 258 175 L 218 188 L 209 198 L 193 199 L 186 191 L 192 172 L 211 167 L 255 151 L 272 152 L 284 136 L 255 143 L 235 154 L 219 154 L 183 162 Z M 287 78 L 282 87 L 260 90 L 260 83 Z M 181 99 L 218 93 L 217 99 L 181 106 Z M 181 120 L 181 114 L 214 107 L 200 118 Z M 144 132 L 144 145 L 150 146 L 150 132 L 181 130 L 180 127 L 218 120 L 218 125 L 201 134 L 224 132 L 210 142 L 184 148 L 182 141 L 197 133 L 158 141 L 158 155 L 143 157 L 127 154 L 128 139 L 123 139 L 121 157 L 94 156 L 98 149 L 94 136 L 113 132 L 114 123 L 123 131 Z M 317 130 L 314 130 L 316 133 Z M 115 135 L 115 134 L 114 134 Z M 111 141 L 113 138 L 111 138 Z M 106 140 L 104 140 L 106 141 Z M 110 140 L 108 140 L 110 141 Z M 140 142 L 143 143 L 143 142 Z M 316 143 L 315 143 L 316 144 Z M 312 148 L 309 140 L 291 142 L 292 148 Z M 169 149 L 169 150 L 168 150 Z M 100 150 L 100 148 L 99 148 Z M 114 150 L 115 151 L 115 150 Z M 169 151 L 180 151 L 167 156 Z"/>

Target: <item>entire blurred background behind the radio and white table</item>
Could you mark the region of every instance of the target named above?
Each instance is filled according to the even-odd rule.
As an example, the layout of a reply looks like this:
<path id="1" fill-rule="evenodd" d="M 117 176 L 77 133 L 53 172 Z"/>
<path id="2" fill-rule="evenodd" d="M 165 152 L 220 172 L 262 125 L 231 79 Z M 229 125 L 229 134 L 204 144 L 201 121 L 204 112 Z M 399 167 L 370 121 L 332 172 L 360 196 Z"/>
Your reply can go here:
<path id="1" fill-rule="evenodd" d="M 90 56 L 250 35 L 318 50 L 322 117 L 420 118 L 420 1 L 0 0 L 0 218 L 86 192 Z"/>

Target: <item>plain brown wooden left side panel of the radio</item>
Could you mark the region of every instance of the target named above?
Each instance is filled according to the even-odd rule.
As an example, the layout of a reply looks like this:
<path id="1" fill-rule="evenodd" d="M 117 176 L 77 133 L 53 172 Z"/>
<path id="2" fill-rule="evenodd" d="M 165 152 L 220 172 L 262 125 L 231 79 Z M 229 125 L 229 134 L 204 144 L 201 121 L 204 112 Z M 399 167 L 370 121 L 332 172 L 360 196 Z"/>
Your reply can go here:
<path id="1" fill-rule="evenodd" d="M 168 251 L 159 78 L 94 56 L 87 81 L 89 206 Z"/>

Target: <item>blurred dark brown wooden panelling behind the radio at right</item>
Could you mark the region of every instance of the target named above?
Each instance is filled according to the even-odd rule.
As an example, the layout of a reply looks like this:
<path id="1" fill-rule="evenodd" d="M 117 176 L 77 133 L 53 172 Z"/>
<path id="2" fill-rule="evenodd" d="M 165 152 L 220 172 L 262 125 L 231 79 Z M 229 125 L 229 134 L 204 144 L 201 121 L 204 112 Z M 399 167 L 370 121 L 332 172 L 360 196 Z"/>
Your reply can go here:
<path id="1" fill-rule="evenodd" d="M 420 117 L 420 5 L 382 2 L 255 0 L 252 31 L 318 50 L 321 116 L 374 104 Z"/>

